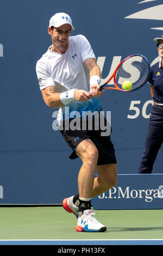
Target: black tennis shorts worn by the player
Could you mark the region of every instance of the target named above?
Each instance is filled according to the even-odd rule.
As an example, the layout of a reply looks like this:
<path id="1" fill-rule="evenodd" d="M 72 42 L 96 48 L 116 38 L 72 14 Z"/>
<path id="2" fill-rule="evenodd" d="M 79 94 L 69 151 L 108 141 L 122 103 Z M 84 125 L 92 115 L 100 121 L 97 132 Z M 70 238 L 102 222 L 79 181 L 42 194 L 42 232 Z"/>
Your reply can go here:
<path id="1" fill-rule="evenodd" d="M 72 119 L 69 120 L 69 124 L 71 121 Z M 116 163 L 115 149 L 110 138 L 111 126 L 107 120 L 104 118 L 103 127 L 101 127 L 102 125 L 98 123 L 99 120 L 97 121 L 97 119 L 93 119 L 92 123 L 89 123 L 88 119 L 85 120 L 85 122 L 86 123 L 84 124 L 83 128 L 81 120 L 76 130 L 65 129 L 64 123 L 63 130 L 60 130 L 65 141 L 73 150 L 73 153 L 70 155 L 70 159 L 76 159 L 78 157 L 76 155 L 76 149 L 80 142 L 84 141 L 85 139 L 91 139 L 98 150 L 97 165 Z M 108 126 L 106 126 L 106 124 Z"/>

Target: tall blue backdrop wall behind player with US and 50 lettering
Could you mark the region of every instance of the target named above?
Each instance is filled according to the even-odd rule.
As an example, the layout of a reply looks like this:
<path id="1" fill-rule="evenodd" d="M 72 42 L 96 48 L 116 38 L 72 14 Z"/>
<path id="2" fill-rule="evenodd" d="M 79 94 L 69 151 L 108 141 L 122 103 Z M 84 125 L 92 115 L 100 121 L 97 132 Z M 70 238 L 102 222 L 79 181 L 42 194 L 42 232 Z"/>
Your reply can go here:
<path id="1" fill-rule="evenodd" d="M 102 84 L 130 54 L 146 56 L 151 65 L 158 61 L 153 38 L 163 33 L 162 0 L 1 0 L 0 204 L 61 203 L 62 197 L 78 193 L 82 163 L 68 158 L 71 149 L 53 129 L 58 109 L 43 101 L 35 71 L 52 44 L 49 19 L 59 12 L 71 16 L 72 35 L 89 40 Z M 109 90 L 100 100 L 103 111 L 111 113 L 118 174 L 137 174 L 153 104 L 149 85 L 133 93 Z M 162 173 L 162 147 L 156 173 Z"/>

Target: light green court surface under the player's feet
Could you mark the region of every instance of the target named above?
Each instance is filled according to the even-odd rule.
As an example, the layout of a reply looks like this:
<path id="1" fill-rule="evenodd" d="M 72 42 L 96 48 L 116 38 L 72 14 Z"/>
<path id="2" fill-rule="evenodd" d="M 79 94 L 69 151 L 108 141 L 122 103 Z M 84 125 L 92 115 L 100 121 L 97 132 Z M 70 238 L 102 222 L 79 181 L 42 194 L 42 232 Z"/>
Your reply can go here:
<path id="1" fill-rule="evenodd" d="M 61 206 L 0 207 L 0 240 L 163 239 L 163 210 L 96 210 L 104 233 L 77 232 Z"/>

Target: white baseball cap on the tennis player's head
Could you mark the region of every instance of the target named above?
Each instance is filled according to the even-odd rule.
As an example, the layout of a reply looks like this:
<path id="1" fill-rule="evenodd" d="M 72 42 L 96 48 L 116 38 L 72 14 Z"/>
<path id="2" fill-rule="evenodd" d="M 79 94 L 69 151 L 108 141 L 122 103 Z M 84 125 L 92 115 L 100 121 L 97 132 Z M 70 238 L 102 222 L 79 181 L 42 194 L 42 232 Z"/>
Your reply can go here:
<path id="1" fill-rule="evenodd" d="M 72 20 L 71 17 L 66 13 L 57 13 L 51 17 L 51 20 L 49 21 L 49 27 L 55 27 L 58 28 L 64 24 L 69 24 L 74 30 L 74 27 L 72 26 Z"/>

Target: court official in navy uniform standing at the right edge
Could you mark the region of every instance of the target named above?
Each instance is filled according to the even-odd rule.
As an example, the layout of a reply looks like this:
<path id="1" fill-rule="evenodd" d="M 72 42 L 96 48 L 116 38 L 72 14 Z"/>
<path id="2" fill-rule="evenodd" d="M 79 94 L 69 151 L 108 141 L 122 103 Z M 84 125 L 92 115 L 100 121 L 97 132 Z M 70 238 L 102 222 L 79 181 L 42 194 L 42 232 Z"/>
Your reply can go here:
<path id="1" fill-rule="evenodd" d="M 148 80 L 154 101 L 149 120 L 145 149 L 140 163 L 139 173 L 152 173 L 158 151 L 163 142 L 163 34 L 154 38 L 160 56 L 159 62 L 151 67 Z"/>

